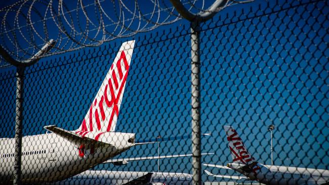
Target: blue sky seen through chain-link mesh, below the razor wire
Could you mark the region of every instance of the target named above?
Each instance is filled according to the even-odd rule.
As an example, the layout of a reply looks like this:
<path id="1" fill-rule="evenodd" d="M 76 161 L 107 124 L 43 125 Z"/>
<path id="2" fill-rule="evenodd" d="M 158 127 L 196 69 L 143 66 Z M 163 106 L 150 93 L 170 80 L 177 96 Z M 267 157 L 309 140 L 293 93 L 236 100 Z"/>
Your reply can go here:
<path id="1" fill-rule="evenodd" d="M 213 134 L 202 138 L 202 152 L 215 153 L 202 162 L 231 161 L 223 129 L 231 125 L 250 153 L 270 164 L 267 126 L 274 124 L 275 165 L 329 169 L 329 9 L 321 1 L 293 4 L 292 9 L 288 5 L 271 2 L 273 9 L 266 9 L 266 3 L 257 1 L 224 10 L 202 24 L 201 129 Z M 134 132 L 140 140 L 189 134 L 188 32 L 189 23 L 180 21 L 99 48 L 42 59 L 27 68 L 24 135 L 45 133 L 43 126 L 51 124 L 76 129 L 121 42 L 129 39 L 136 39 L 136 45 L 116 130 Z M 2 69 L 0 74 L 1 137 L 14 135 L 13 71 Z M 189 140 L 166 142 L 160 151 L 190 153 L 190 146 Z M 157 155 L 157 145 L 138 146 L 120 157 L 146 155 Z M 164 159 L 161 164 L 161 171 L 191 173 L 188 158 Z M 97 169 L 153 171 L 157 166 L 153 160 Z M 204 174 L 202 178 L 214 180 Z"/>

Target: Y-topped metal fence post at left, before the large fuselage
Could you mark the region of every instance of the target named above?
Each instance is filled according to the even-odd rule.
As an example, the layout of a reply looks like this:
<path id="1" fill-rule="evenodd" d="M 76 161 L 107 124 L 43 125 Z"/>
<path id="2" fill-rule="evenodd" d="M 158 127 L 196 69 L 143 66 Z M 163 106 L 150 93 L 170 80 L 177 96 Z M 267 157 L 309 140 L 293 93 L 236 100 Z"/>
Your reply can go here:
<path id="1" fill-rule="evenodd" d="M 33 57 L 24 61 L 13 59 L 8 52 L 0 45 L 0 55 L 11 65 L 16 66 L 16 118 L 15 118 L 15 163 L 14 163 L 14 182 L 21 184 L 21 154 L 22 154 L 22 130 L 23 130 L 23 98 L 24 98 L 24 70 L 25 67 L 35 64 L 43 55 L 49 52 L 54 46 L 55 41 L 49 40 L 44 47 Z"/>

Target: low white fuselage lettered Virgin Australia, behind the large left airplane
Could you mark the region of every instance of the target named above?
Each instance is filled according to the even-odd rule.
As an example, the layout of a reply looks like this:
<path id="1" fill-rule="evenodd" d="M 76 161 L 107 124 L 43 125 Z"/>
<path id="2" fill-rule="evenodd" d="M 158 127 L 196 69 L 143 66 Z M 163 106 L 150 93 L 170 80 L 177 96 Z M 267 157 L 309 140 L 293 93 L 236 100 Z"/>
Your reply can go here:
<path id="1" fill-rule="evenodd" d="M 54 184 L 125 184 L 146 175 L 143 171 L 87 170 Z M 153 173 L 153 172 L 152 172 Z M 187 173 L 154 172 L 150 184 L 191 184 L 192 175 Z"/>

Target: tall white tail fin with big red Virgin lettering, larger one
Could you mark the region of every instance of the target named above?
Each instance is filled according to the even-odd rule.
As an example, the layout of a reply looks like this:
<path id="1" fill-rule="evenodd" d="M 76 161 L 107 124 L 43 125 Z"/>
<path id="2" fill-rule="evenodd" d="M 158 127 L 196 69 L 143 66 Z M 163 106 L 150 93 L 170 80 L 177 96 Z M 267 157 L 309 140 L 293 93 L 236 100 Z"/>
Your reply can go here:
<path id="1" fill-rule="evenodd" d="M 135 40 L 122 43 L 85 119 L 76 133 L 114 131 L 126 86 Z"/>

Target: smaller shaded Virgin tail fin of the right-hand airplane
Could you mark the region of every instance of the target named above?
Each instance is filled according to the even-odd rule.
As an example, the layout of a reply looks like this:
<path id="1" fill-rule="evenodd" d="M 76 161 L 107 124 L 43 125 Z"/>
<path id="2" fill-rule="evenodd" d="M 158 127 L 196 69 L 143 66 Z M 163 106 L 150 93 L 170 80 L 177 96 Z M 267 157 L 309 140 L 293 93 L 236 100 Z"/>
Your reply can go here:
<path id="1" fill-rule="evenodd" d="M 231 126 L 224 126 L 224 129 L 227 136 L 228 147 L 233 158 L 233 163 L 250 164 L 254 162 L 255 159 L 245 148 L 235 129 Z"/>

